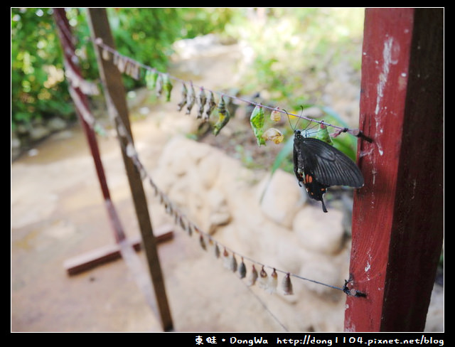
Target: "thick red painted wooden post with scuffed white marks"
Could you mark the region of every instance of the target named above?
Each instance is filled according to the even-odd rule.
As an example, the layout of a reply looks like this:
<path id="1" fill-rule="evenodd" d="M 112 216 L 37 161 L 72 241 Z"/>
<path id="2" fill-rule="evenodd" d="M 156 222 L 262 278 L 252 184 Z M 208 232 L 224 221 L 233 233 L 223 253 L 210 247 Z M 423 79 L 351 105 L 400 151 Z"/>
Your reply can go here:
<path id="1" fill-rule="evenodd" d="M 443 9 L 367 9 L 346 331 L 423 331 L 443 240 Z"/>

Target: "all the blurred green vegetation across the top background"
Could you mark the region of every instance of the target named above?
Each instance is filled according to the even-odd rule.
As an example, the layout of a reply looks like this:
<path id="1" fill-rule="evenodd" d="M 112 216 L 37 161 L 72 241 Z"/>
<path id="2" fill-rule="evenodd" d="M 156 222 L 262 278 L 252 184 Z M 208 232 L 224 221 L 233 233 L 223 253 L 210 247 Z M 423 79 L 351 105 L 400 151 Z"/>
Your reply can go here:
<path id="1" fill-rule="evenodd" d="M 117 49 L 166 71 L 172 45 L 182 38 L 217 33 L 242 42 L 249 55 L 242 94 L 267 91 L 267 102 L 290 111 L 318 106 L 324 120 L 346 126 L 321 105 L 327 70 L 341 61 L 360 69 L 363 9 L 210 8 L 107 9 Z M 97 80 L 86 9 L 68 9 L 84 78 Z M 316 82 L 315 82 L 316 81 Z M 124 78 L 127 90 L 145 80 Z M 272 105 L 270 104 L 270 105 Z M 11 129 L 58 115 L 74 119 L 52 9 L 11 9 Z M 303 122 L 299 127 L 303 127 Z M 290 131 L 290 130 L 289 130 Z M 354 156 L 355 139 L 342 137 Z M 338 141 L 338 139 L 337 139 Z"/>

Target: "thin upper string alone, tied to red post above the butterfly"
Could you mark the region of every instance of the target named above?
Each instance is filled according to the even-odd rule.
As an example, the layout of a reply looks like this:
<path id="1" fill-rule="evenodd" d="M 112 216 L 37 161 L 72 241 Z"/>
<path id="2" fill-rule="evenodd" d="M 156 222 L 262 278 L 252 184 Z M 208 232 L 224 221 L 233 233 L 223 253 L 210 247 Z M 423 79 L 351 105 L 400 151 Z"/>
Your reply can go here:
<path id="1" fill-rule="evenodd" d="M 281 112 L 282 114 L 287 114 L 288 116 L 293 116 L 293 117 L 297 117 L 297 118 L 301 118 L 301 119 L 306 119 L 309 122 L 314 122 L 314 123 L 317 123 L 317 124 L 323 124 L 326 127 L 332 127 L 334 129 L 338 129 L 337 132 L 335 134 L 333 134 L 333 136 L 338 136 L 338 134 L 341 134 L 342 132 L 347 132 L 348 134 L 351 134 L 351 135 L 353 135 L 355 137 L 362 137 L 363 139 L 370 140 L 370 139 L 368 139 L 368 137 L 365 137 L 363 132 L 361 132 L 359 129 L 350 129 L 348 127 L 340 127 L 338 125 L 334 125 L 334 124 L 331 124 L 331 123 L 328 123 L 328 122 L 324 122 L 323 120 L 313 119 L 313 118 L 310 118 L 310 117 L 305 117 L 303 115 L 287 112 L 286 110 L 281 109 L 279 107 L 271 107 L 271 106 L 268 106 L 268 105 L 261 104 L 259 102 L 254 102 L 252 100 L 247 100 L 247 99 L 245 99 L 243 97 L 237 97 L 235 95 L 228 95 L 225 92 L 219 92 L 217 90 L 210 90 L 208 88 L 203 87 L 203 85 L 197 85 L 197 84 L 194 84 L 192 81 L 183 80 L 181 78 L 177 78 L 176 76 L 169 75 L 168 73 L 163 73 L 163 72 L 157 70 L 156 68 L 153 68 L 153 67 L 151 67 L 149 65 L 145 65 L 145 64 L 143 64 L 143 63 L 141 63 L 141 62 L 139 62 L 137 60 L 134 60 L 131 57 L 128 57 L 127 55 L 123 55 L 122 53 L 119 53 L 118 50 L 115 50 L 114 48 L 112 48 L 110 46 L 107 46 L 102 41 L 102 38 L 95 38 L 94 42 L 100 48 L 108 50 L 113 55 L 117 55 L 117 57 L 121 57 L 124 60 L 129 61 L 129 63 L 137 65 L 137 66 L 139 66 L 141 68 L 144 68 L 145 70 L 154 71 L 154 72 L 159 73 L 161 75 L 168 75 L 168 78 L 170 78 L 171 80 L 176 80 L 176 81 L 181 82 L 183 84 L 187 84 L 188 83 L 188 84 L 193 85 L 193 87 L 203 88 L 203 90 L 218 94 L 218 95 L 220 95 L 220 97 L 229 97 L 230 99 L 237 100 L 237 101 L 240 101 L 240 102 L 245 102 L 245 103 L 250 104 L 250 105 L 254 105 L 254 106 L 258 106 L 258 107 L 264 107 L 267 110 Z"/>

